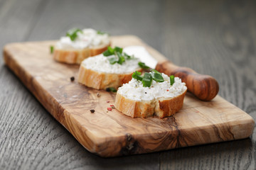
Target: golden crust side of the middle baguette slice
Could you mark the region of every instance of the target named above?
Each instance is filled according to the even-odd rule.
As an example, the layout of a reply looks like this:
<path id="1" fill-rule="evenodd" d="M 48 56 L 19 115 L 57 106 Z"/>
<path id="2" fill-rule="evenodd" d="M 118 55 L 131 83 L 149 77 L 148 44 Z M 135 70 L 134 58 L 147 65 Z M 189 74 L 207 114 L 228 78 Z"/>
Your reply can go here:
<path id="1" fill-rule="evenodd" d="M 142 72 L 142 69 L 137 69 L 137 71 Z M 87 69 L 81 64 L 78 72 L 78 82 L 98 90 L 107 89 L 108 87 L 118 89 L 119 86 L 128 83 L 132 79 L 132 74 L 133 72 L 127 74 L 97 72 Z"/>

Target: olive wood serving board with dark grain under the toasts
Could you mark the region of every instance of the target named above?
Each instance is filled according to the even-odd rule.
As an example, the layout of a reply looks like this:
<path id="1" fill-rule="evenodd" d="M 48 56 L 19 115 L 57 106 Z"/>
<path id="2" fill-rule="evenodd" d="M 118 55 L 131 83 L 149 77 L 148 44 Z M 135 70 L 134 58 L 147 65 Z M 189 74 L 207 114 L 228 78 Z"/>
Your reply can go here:
<path id="1" fill-rule="evenodd" d="M 55 62 L 50 55 L 50 45 L 54 43 L 6 45 L 4 60 L 50 114 L 92 153 L 115 157 L 252 135 L 252 117 L 220 96 L 205 102 L 187 93 L 181 111 L 164 119 L 130 118 L 116 109 L 107 111 L 114 104 L 115 94 L 78 84 L 79 66 Z M 112 45 L 143 45 L 156 60 L 166 60 L 133 35 L 113 37 Z M 75 77 L 75 81 L 70 81 L 70 77 Z M 90 113 L 90 109 L 95 113 Z"/>

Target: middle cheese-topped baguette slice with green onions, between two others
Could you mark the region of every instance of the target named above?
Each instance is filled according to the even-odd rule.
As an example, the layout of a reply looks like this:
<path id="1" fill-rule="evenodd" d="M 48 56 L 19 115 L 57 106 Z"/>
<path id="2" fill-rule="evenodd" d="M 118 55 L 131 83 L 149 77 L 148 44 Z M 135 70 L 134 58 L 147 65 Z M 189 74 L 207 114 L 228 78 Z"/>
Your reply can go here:
<path id="1" fill-rule="evenodd" d="M 117 90 L 132 79 L 134 71 L 142 71 L 139 65 L 140 60 L 123 53 L 122 48 L 108 47 L 102 54 L 82 61 L 78 82 L 93 89 Z"/>

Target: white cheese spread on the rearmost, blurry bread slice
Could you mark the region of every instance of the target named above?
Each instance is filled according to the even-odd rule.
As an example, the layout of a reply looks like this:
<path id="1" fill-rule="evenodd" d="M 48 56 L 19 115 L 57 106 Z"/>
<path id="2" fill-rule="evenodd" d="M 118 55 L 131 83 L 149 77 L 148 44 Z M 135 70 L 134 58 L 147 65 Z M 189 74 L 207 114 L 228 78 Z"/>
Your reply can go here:
<path id="1" fill-rule="evenodd" d="M 56 47 L 60 49 L 75 48 L 83 49 L 86 47 L 94 47 L 102 44 L 110 43 L 110 36 L 105 34 L 98 34 L 97 30 L 91 28 L 83 29 L 82 33 L 78 32 L 78 37 L 74 41 L 70 40 L 70 37 L 65 36 L 60 38 L 56 43 Z"/>

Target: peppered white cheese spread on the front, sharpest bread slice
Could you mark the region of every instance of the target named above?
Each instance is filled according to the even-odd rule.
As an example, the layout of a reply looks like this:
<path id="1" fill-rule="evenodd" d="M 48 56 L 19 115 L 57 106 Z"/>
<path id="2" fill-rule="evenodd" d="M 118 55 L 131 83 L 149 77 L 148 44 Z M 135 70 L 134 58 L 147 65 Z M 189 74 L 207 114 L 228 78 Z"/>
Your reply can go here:
<path id="1" fill-rule="evenodd" d="M 142 81 L 132 78 L 129 83 L 119 87 L 117 93 L 133 101 L 152 101 L 162 97 L 174 98 L 186 91 L 187 87 L 185 83 L 182 83 L 178 77 L 174 78 L 174 84 L 172 86 L 170 84 L 170 78 L 166 74 L 162 73 L 162 77 L 164 78 L 164 82 L 152 80 L 150 87 L 144 87 Z"/>

